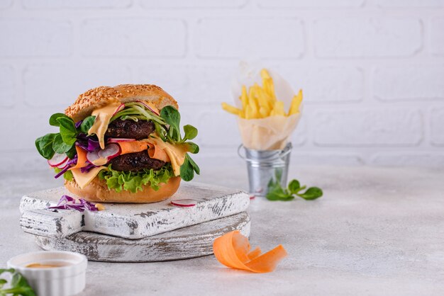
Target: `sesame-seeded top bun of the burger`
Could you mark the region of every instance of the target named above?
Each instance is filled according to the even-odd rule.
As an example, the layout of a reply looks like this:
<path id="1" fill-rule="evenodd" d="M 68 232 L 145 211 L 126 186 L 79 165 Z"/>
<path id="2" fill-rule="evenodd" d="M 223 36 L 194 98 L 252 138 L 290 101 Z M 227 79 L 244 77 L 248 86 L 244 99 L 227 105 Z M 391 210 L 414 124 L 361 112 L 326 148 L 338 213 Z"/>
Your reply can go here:
<path id="1" fill-rule="evenodd" d="M 121 84 L 118 86 L 99 86 L 82 93 L 77 100 L 65 110 L 72 120 L 78 121 L 91 115 L 94 109 L 113 102 L 129 103 L 147 101 L 159 110 L 165 106 L 177 106 L 177 101 L 166 91 L 154 84 Z"/>

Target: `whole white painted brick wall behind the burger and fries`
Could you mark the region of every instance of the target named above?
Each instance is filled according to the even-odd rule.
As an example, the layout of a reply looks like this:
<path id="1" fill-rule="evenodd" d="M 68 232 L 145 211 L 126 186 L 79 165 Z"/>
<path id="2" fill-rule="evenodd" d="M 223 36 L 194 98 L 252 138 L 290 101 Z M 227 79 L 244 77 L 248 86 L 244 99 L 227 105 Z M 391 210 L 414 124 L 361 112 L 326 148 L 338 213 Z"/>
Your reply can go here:
<path id="1" fill-rule="evenodd" d="M 242 164 L 239 59 L 304 89 L 294 165 L 444 165 L 444 0 L 0 0 L 0 40 L 0 171 L 45 167 L 49 115 L 121 83 L 178 99 L 203 167 Z"/>

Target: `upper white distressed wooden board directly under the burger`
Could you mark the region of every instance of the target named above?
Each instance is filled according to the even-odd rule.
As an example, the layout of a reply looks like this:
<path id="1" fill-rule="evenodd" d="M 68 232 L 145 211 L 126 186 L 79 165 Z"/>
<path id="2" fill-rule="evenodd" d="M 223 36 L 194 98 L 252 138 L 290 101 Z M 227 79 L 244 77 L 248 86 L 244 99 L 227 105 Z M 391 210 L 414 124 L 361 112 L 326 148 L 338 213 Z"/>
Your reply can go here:
<path id="1" fill-rule="evenodd" d="M 21 228 L 45 237 L 67 237 L 89 231 L 126 239 L 141 239 L 174 229 L 199 224 L 244 212 L 250 204 L 241 190 L 185 183 L 169 200 L 147 204 L 106 203 L 99 212 L 48 210 L 64 194 L 78 198 L 64 187 L 41 190 L 23 196 L 20 210 Z M 175 207 L 171 200 L 192 198 L 194 207 Z"/>

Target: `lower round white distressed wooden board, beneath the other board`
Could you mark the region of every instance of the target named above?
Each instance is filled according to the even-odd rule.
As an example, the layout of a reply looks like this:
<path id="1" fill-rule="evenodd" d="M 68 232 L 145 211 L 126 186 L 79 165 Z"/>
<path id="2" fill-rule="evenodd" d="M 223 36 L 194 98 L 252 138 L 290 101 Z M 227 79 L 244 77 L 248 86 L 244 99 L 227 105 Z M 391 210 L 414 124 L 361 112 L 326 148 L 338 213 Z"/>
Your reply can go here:
<path id="1" fill-rule="evenodd" d="M 145 239 L 122 239 L 94 232 L 78 232 L 65 238 L 36 236 L 35 240 L 45 250 L 73 251 L 84 254 L 92 261 L 150 262 L 213 254 L 214 239 L 233 230 L 250 236 L 250 217 L 246 212 Z"/>

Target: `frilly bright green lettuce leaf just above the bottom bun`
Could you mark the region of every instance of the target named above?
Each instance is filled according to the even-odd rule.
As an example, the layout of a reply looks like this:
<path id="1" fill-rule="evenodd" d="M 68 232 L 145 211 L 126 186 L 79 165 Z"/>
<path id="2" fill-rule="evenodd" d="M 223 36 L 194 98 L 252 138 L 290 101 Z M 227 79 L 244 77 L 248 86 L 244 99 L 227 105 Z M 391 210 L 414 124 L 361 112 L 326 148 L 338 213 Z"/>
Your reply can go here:
<path id="1" fill-rule="evenodd" d="M 154 190 L 159 190 L 161 183 L 167 183 L 174 176 L 171 164 L 165 164 L 161 169 L 144 169 L 138 172 L 114 171 L 111 166 L 99 173 L 99 178 L 106 181 L 109 189 L 121 192 L 127 190 L 136 193 L 142 190 L 142 186 L 149 185 Z"/>

